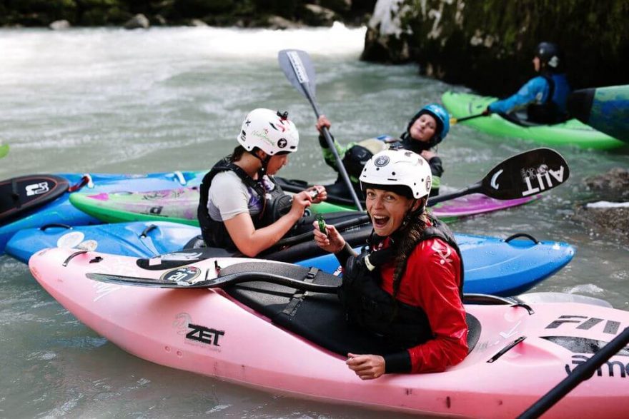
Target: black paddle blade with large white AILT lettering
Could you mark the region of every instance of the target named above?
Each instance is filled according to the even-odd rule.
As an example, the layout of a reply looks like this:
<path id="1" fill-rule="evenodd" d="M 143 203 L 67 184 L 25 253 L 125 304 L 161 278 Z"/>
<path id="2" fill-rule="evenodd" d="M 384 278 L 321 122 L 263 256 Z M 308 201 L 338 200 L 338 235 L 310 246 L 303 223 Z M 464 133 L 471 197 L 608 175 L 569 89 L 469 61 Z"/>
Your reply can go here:
<path id="1" fill-rule="evenodd" d="M 550 148 L 517 154 L 492 168 L 482 179 L 480 192 L 496 199 L 515 199 L 555 188 L 570 177 L 568 163 Z"/>

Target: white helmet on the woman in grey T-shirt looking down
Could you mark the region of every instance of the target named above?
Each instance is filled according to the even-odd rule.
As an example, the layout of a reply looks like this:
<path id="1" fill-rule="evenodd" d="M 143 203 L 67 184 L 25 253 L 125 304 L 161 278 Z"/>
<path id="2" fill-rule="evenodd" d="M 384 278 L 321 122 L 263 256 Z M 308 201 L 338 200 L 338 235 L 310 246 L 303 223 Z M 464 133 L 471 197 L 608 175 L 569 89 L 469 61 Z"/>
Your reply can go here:
<path id="1" fill-rule="evenodd" d="M 247 151 L 257 147 L 271 156 L 280 151 L 297 151 L 299 133 L 297 127 L 284 114 L 270 109 L 257 108 L 249 112 L 236 137 Z"/>

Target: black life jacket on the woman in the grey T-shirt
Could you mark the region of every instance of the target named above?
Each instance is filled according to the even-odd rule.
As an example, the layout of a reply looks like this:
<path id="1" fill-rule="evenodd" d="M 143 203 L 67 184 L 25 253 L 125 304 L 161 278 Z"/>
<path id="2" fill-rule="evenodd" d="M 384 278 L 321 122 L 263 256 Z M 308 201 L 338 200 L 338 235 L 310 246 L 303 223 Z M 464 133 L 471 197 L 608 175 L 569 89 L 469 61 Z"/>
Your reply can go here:
<path id="1" fill-rule="evenodd" d="M 254 193 L 262 199 L 262 211 L 257 216 L 252 216 L 253 225 L 256 229 L 271 225 L 278 218 L 287 213 L 291 206 L 291 197 L 282 191 L 282 188 L 275 182 L 272 176 L 268 178 L 274 183 L 272 191 L 266 191 L 261 181 L 255 181 L 242 168 L 239 168 L 228 158 L 222 158 L 216 163 L 204 177 L 199 186 L 199 208 L 197 208 L 197 218 L 201 226 L 201 234 L 206 246 L 224 248 L 228 251 L 237 251 L 237 247 L 227 232 L 227 228 L 222 221 L 213 220 L 207 210 L 209 199 L 209 187 L 212 185 L 214 176 L 223 171 L 233 171 L 240 180 Z"/>

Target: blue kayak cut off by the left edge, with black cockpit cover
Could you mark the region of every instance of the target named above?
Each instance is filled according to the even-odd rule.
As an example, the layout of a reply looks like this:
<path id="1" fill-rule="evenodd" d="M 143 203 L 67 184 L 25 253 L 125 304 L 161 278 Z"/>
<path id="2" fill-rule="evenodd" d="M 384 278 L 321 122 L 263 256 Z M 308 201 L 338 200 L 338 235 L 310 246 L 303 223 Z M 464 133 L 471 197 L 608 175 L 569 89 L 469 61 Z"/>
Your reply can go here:
<path id="1" fill-rule="evenodd" d="M 100 224 L 98 219 L 88 216 L 86 213 L 74 208 L 69 202 L 70 193 L 74 191 L 81 192 L 113 192 L 113 191 L 154 191 L 158 189 L 179 188 L 181 186 L 197 186 L 201 183 L 204 171 L 175 171 L 164 173 L 149 173 L 147 175 L 134 174 L 79 174 L 79 173 L 56 173 L 49 176 L 57 178 L 59 181 L 65 181 L 66 191 L 61 194 L 54 194 L 46 199 L 46 193 L 49 192 L 45 183 L 34 181 L 34 183 L 26 184 L 25 193 L 31 199 L 40 191 L 40 203 L 27 207 L 24 203 L 16 201 L 12 203 L 5 200 L 0 205 L 0 215 L 7 214 L 5 218 L 0 218 L 0 255 L 4 253 L 9 238 L 17 231 L 24 228 L 34 228 L 46 226 L 49 224 L 64 224 L 66 226 L 85 226 L 88 224 Z M 32 178 L 36 178 L 34 175 Z M 23 176 L 29 178 L 29 176 Z M 46 178 L 46 175 L 44 175 Z M 19 178 L 14 178 L 19 179 Z M 14 179 L 8 179 L 2 183 L 7 188 L 17 191 L 17 183 Z M 12 182 L 13 181 L 13 182 Z M 28 183 L 28 182 L 26 182 Z M 37 190 L 36 185 L 43 184 L 44 188 Z M 9 195 L 4 193 L 4 195 Z M 19 193 L 15 193 L 16 199 L 19 199 Z M 14 208 L 11 208 L 13 206 Z M 19 208 L 21 211 L 11 213 L 11 209 Z"/>

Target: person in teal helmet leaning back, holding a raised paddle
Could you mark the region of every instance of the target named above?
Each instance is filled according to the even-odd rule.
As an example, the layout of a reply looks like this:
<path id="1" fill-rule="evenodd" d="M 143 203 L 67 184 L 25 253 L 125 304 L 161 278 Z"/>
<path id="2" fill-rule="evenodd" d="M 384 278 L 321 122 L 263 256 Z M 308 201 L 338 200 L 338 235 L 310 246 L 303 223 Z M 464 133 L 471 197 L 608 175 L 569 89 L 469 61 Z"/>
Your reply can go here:
<path id="1" fill-rule="evenodd" d="M 325 158 L 325 162 L 328 166 L 331 166 L 337 171 L 334 154 L 330 151 L 322 135 L 321 130 L 324 126 L 330 129 L 332 123 L 330 123 L 330 120 L 325 115 L 322 115 L 317 120 L 316 127 L 320 134 L 319 143 L 323 151 L 323 158 Z M 390 147 L 402 147 L 407 150 L 415 151 L 415 153 L 420 154 L 428 161 L 430 170 L 432 171 L 433 181 L 430 195 L 436 196 L 439 195 L 443 166 L 441 158 L 437 156 L 434 148 L 443 141 L 448 131 L 450 131 L 450 115 L 443 106 L 430 104 L 415 113 L 410 119 L 406 131 L 402 133 L 401 138 L 392 138 L 389 136 L 370 138 L 360 141 L 359 143 L 349 143 L 345 147 L 341 146 L 334 138 L 332 139 L 357 194 L 360 195 L 361 193 L 358 177 L 365 163 L 379 151 Z M 347 186 L 345 186 L 342 178 L 338 178 L 333 185 L 327 186 L 327 191 L 330 195 L 346 196 Z"/>

